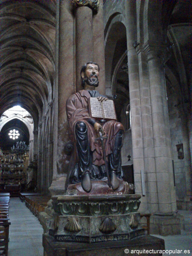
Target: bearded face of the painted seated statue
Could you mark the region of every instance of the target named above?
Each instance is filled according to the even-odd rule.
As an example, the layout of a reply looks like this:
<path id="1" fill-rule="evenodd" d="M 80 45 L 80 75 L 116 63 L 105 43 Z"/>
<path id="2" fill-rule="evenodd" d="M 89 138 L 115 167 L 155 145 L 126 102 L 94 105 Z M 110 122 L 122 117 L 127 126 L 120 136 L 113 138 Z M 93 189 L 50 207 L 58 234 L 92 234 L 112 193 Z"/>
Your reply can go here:
<path id="1" fill-rule="evenodd" d="M 88 64 L 85 72 L 82 72 L 82 77 L 85 80 L 85 83 L 89 84 L 89 86 L 97 87 L 99 82 L 98 66 L 95 64 Z"/>

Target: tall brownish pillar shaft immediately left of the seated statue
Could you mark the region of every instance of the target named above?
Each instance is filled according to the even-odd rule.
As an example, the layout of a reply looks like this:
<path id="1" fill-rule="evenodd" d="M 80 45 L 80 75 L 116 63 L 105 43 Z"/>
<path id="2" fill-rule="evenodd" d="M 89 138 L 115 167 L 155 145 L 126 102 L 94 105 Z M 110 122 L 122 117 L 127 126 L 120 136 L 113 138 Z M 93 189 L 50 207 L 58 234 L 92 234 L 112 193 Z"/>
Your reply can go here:
<path id="1" fill-rule="evenodd" d="M 66 100 L 75 92 L 75 19 L 71 1 L 57 1 L 55 39 L 55 84 L 53 102 L 52 194 L 64 188 L 67 173 L 64 145 L 67 135 Z M 68 161 L 69 162 L 69 161 Z"/>

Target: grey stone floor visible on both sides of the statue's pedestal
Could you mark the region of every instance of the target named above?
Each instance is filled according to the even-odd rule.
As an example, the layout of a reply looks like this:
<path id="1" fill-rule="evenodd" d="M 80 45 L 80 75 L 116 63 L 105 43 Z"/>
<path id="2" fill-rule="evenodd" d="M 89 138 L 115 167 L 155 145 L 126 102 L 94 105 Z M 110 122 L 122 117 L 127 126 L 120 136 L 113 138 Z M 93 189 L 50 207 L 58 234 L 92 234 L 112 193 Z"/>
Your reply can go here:
<path id="1" fill-rule="evenodd" d="M 179 211 L 184 216 L 185 230 L 181 235 L 158 236 L 165 240 L 166 250 L 183 250 L 182 253 L 166 253 L 164 256 L 192 255 L 192 212 Z M 19 198 L 10 199 L 10 241 L 8 256 L 43 256 L 41 224 Z M 190 253 L 184 253 L 190 250 Z M 126 254 L 125 254 L 126 255 Z M 155 255 L 155 254 L 154 254 Z M 112 255 L 115 256 L 115 255 Z"/>

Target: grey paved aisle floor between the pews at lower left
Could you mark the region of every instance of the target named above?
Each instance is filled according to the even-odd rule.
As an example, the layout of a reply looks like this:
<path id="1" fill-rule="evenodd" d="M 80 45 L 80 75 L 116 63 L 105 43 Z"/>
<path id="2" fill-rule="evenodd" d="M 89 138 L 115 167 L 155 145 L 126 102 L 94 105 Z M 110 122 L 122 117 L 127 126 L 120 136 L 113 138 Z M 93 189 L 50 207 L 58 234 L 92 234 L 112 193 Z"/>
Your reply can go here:
<path id="1" fill-rule="evenodd" d="M 42 256 L 42 226 L 19 198 L 10 198 L 9 218 L 8 256 Z"/>

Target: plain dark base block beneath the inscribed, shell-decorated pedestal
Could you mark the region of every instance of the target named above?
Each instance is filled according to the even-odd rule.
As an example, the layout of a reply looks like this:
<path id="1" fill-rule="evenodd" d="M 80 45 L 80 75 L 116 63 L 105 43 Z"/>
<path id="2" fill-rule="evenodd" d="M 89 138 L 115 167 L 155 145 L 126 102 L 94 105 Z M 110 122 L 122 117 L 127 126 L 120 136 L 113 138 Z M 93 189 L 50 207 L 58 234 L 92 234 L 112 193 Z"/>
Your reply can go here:
<path id="1" fill-rule="evenodd" d="M 141 236 L 130 241 L 87 244 L 55 242 L 52 236 L 44 234 L 42 244 L 44 246 L 44 256 L 160 256 L 165 249 L 164 240 L 151 235 Z M 156 253 L 157 250 L 160 250 L 160 252 Z"/>

